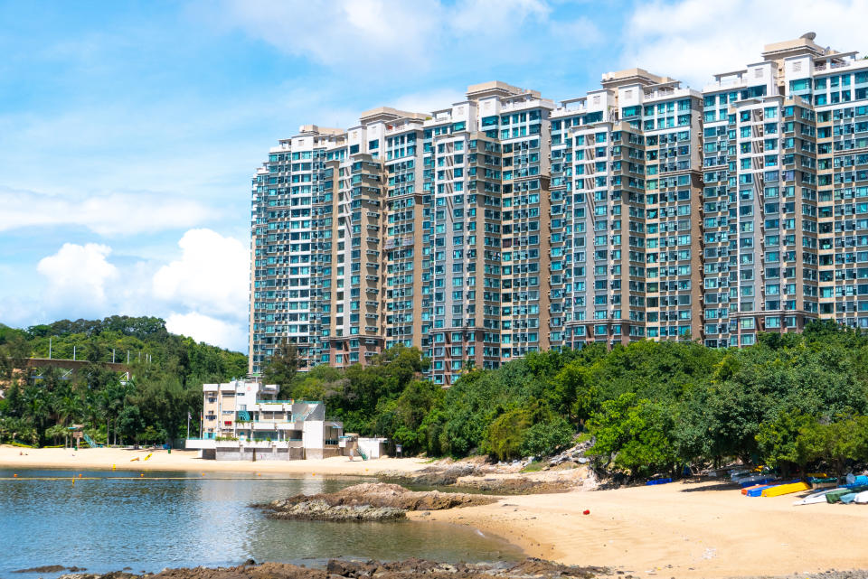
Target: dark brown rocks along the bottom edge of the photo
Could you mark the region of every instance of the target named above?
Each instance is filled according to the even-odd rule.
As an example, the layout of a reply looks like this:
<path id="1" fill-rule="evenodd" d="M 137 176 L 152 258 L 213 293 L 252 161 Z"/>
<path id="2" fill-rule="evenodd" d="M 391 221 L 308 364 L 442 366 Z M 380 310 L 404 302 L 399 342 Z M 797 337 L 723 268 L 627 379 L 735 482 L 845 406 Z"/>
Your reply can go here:
<path id="1" fill-rule="evenodd" d="M 325 569 L 309 569 L 298 565 L 265 563 L 210 569 L 165 569 L 159 574 L 137 575 L 124 572 L 109 574 L 65 574 L 59 579 L 590 579 L 607 574 L 601 567 L 558 565 L 541 559 L 525 559 L 514 565 L 465 564 L 449 565 L 420 559 L 393 563 L 330 560 Z"/>

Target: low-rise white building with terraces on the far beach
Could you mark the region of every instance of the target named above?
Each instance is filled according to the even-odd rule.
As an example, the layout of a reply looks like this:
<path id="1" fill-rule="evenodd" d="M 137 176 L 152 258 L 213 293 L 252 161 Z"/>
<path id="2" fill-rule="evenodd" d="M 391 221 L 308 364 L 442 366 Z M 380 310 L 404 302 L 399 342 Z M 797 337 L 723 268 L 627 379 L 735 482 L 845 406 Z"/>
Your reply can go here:
<path id="1" fill-rule="evenodd" d="M 343 452 L 344 425 L 325 418 L 325 404 L 278 400 L 278 387 L 255 380 L 203 384 L 202 438 L 186 448 L 216 460 L 295 460 Z"/>

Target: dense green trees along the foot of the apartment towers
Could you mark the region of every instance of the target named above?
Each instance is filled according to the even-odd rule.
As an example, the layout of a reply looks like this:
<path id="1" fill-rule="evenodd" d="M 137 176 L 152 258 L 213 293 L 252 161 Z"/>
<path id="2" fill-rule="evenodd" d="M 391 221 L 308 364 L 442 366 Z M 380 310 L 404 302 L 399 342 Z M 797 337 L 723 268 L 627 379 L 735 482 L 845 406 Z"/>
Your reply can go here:
<path id="1" fill-rule="evenodd" d="M 585 432 L 599 468 L 630 476 L 736 458 L 842 470 L 868 462 L 866 362 L 868 336 L 815 322 L 741 350 L 639 341 L 532 353 L 468 370 L 445 390 L 423 380 L 418 350 L 398 348 L 365 368 L 299 373 L 285 388 L 408 453 L 510 459 Z"/>

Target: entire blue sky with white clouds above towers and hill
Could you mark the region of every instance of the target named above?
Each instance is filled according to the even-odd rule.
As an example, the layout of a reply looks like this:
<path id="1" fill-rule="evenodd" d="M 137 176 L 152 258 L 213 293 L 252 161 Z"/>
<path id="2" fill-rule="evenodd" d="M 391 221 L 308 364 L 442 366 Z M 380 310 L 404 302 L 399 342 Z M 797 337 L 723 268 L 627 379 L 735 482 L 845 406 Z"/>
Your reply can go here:
<path id="1" fill-rule="evenodd" d="M 247 349 L 250 179 L 300 125 L 503 80 L 582 96 L 639 66 L 702 89 L 868 0 L 0 0 L 0 323 L 154 315 Z"/>

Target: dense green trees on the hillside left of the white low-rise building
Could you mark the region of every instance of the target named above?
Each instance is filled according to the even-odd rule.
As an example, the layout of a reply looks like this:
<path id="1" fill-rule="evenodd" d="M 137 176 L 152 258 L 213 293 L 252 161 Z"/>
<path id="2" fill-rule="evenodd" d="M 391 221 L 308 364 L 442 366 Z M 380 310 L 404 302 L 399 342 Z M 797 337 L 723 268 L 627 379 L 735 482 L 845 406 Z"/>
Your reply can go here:
<path id="1" fill-rule="evenodd" d="M 24 369 L 27 358 L 73 357 L 73 373 Z M 106 362 L 127 363 L 129 379 Z M 247 357 L 172 334 L 157 318 L 63 320 L 16 330 L 0 325 L 0 442 L 63 444 L 66 427 L 85 425 L 98 442 L 163 443 L 198 424 L 202 384 L 242 377 Z"/>

